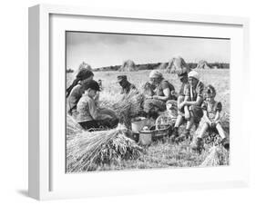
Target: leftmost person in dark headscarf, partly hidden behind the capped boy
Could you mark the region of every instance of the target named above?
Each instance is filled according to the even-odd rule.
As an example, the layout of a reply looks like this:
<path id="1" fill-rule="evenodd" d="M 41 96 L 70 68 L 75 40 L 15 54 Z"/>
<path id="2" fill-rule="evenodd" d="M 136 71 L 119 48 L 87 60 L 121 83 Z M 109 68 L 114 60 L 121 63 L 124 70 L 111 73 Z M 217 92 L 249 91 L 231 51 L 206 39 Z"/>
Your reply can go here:
<path id="1" fill-rule="evenodd" d="M 94 73 L 90 71 L 88 68 L 79 69 L 76 75 L 76 79 L 73 83 L 67 88 L 67 99 L 69 110 L 68 113 L 77 118 L 77 102 L 82 97 L 83 93 L 85 93 L 85 87 L 83 86 L 89 80 L 93 80 Z M 97 100 L 97 96 L 96 96 Z"/>

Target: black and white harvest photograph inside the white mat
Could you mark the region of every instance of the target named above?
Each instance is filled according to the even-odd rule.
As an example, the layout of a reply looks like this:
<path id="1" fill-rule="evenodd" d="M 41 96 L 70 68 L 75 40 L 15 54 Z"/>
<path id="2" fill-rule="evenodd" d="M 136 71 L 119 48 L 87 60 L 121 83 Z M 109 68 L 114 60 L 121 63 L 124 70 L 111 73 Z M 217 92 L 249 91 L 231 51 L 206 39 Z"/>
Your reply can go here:
<path id="1" fill-rule="evenodd" d="M 230 69 L 229 38 L 66 31 L 66 172 L 229 166 Z"/>

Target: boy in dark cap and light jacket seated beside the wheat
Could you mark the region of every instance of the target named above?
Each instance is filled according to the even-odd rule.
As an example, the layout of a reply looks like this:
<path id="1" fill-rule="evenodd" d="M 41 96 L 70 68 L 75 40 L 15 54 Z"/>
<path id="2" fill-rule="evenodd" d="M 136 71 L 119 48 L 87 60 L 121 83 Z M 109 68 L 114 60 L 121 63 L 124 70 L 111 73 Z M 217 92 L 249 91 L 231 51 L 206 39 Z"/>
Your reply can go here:
<path id="1" fill-rule="evenodd" d="M 77 122 L 85 129 L 114 128 L 118 125 L 116 114 L 108 109 L 100 109 L 94 100 L 99 85 L 96 81 L 87 81 L 84 85 L 85 93 L 77 103 Z"/>

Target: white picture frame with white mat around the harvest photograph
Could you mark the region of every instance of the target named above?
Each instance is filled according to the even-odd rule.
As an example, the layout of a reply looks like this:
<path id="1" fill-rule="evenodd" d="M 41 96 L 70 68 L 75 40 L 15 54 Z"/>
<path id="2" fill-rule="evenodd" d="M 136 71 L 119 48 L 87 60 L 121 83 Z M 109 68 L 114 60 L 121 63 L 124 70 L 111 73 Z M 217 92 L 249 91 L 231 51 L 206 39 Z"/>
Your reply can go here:
<path id="1" fill-rule="evenodd" d="M 56 18 L 54 19 L 53 17 Z M 58 16 L 61 16 L 60 18 Z M 65 24 L 63 22 L 65 17 Z M 70 21 L 68 20 L 70 19 Z M 80 19 L 80 20 L 79 20 Z M 81 20 L 82 19 L 82 20 Z M 56 57 L 63 59 L 64 53 L 55 55 L 55 46 L 63 50 L 65 42 L 55 42 L 56 34 L 73 29 L 80 25 L 79 21 L 87 24 L 99 23 L 91 26 L 91 31 L 117 32 L 116 27 L 104 26 L 104 21 L 115 21 L 118 23 L 128 22 L 134 24 L 134 32 L 145 32 L 139 30 L 136 24 L 177 24 L 182 25 L 184 34 L 186 26 L 197 25 L 201 30 L 191 30 L 191 36 L 200 35 L 207 37 L 228 36 L 233 39 L 231 46 L 231 66 L 233 72 L 231 81 L 231 124 L 233 132 L 232 151 L 230 166 L 225 168 L 193 168 L 193 169 L 171 169 L 150 171 L 107 171 L 104 173 L 66 174 L 62 168 L 65 166 L 63 147 L 65 144 L 61 138 L 64 131 L 56 123 L 65 124 L 65 113 L 56 111 L 56 102 L 63 104 L 65 97 L 62 94 L 53 96 L 56 88 L 63 88 L 65 79 L 57 77 L 59 71 L 53 63 Z M 103 21 L 103 22 L 100 22 Z M 74 22 L 77 22 L 74 24 Z M 110 23 L 109 23 L 110 24 Z M 112 23 L 111 23 L 112 24 Z M 113 23 L 114 24 L 114 23 Z M 116 23 L 115 23 L 116 24 Z M 99 26 L 101 25 L 101 26 Z M 211 27 L 215 26 L 216 31 Z M 130 28 L 120 26 L 122 31 Z M 209 28 L 208 28 L 209 27 Z M 161 32 L 157 27 L 155 32 Z M 206 29 L 204 29 L 206 28 Z M 190 28 L 189 28 L 190 29 Z M 188 30 L 189 30 L 188 29 Z M 218 30 L 219 29 L 219 30 Z M 178 29 L 179 30 L 179 29 Z M 210 31 L 211 30 L 211 31 Z M 122 32 L 119 30 L 120 33 Z M 154 30 L 152 30 L 154 32 Z M 218 33 L 220 31 L 220 33 Z M 55 33 L 56 32 L 56 33 Z M 162 30 L 162 32 L 164 32 Z M 182 32 L 181 32 L 182 33 Z M 180 34 L 181 34 L 180 33 Z M 177 33 L 178 34 L 178 33 Z M 178 34 L 178 35 L 180 35 Z M 249 154 L 249 137 L 245 134 L 246 125 L 238 126 L 244 118 L 242 108 L 243 102 L 236 102 L 239 94 L 247 86 L 249 78 L 249 20 L 242 17 L 217 16 L 217 15 L 181 15 L 139 11 L 106 10 L 99 8 L 83 8 L 64 5 L 36 5 L 29 8 L 29 181 L 28 193 L 30 197 L 37 200 L 51 200 L 63 198 L 81 198 L 88 196 L 132 194 L 143 192 L 159 192 L 169 190 L 187 189 L 212 189 L 247 186 L 249 183 L 249 161 L 244 161 Z M 54 45 L 56 44 L 56 45 Z M 238 48 L 238 49 L 236 49 Z M 52 68 L 55 69 L 52 69 Z M 63 67 L 65 70 L 65 67 Z M 61 76 L 61 74 L 60 74 Z M 58 80 L 59 79 L 59 80 Z M 237 81 L 241 84 L 235 83 Z M 236 91 L 236 92 L 234 92 Z M 61 100 L 62 99 L 62 100 Z M 65 105 L 64 105 L 65 106 Z M 63 110 L 64 111 L 64 110 Z M 56 112 L 56 113 L 55 113 Z M 54 124 L 54 126 L 53 126 Z M 58 127 L 58 128 L 56 128 Z M 241 137 L 242 136 L 242 137 Z M 240 139 L 239 139 L 240 138 Z M 57 145 L 58 144 L 58 145 Z M 239 146 L 241 145 L 241 146 Z M 60 149 L 60 150 L 58 150 Z M 59 153 L 59 154 L 58 154 Z M 158 177 L 159 176 L 159 177 Z M 116 179 L 111 181 L 109 179 Z M 148 179 L 151 179 L 148 181 Z"/>

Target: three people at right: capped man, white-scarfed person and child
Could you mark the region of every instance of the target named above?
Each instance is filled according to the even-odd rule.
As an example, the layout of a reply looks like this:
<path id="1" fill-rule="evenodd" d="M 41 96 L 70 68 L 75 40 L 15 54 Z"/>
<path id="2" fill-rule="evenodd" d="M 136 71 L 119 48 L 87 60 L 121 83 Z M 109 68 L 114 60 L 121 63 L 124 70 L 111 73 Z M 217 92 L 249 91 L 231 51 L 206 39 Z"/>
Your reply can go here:
<path id="1" fill-rule="evenodd" d="M 181 82 L 178 97 L 178 117 L 173 128 L 173 139 L 175 142 L 182 142 L 189 138 L 189 132 L 195 124 L 196 128 L 200 122 L 200 134 L 194 137 L 193 150 L 203 149 L 203 136 L 206 132 L 217 132 L 220 135 L 221 143 L 230 148 L 229 137 L 220 124 L 221 102 L 215 101 L 216 90 L 212 85 L 204 86 L 200 82 L 200 74 L 196 71 L 181 72 L 178 74 Z M 186 129 L 179 134 L 180 124 L 186 121 Z"/>

